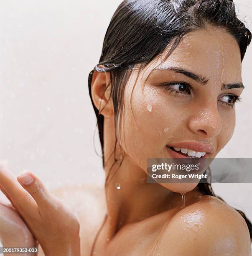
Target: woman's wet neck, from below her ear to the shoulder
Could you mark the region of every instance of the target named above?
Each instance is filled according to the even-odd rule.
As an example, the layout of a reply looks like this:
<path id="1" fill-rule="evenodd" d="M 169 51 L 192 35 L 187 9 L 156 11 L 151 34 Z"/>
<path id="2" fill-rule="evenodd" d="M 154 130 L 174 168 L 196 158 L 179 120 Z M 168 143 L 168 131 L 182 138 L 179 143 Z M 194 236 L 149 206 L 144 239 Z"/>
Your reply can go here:
<path id="1" fill-rule="evenodd" d="M 127 223 L 141 221 L 150 216 L 181 206 L 181 195 L 160 184 L 147 183 L 147 174 L 127 154 L 123 157 L 117 145 L 110 119 L 104 120 L 104 163 L 106 172 L 108 233 L 114 236 Z M 109 126 L 109 128 L 108 128 Z M 115 158 L 119 159 L 115 162 Z M 121 162 L 121 164 L 120 164 Z M 176 199 L 176 200 L 175 200 Z"/>

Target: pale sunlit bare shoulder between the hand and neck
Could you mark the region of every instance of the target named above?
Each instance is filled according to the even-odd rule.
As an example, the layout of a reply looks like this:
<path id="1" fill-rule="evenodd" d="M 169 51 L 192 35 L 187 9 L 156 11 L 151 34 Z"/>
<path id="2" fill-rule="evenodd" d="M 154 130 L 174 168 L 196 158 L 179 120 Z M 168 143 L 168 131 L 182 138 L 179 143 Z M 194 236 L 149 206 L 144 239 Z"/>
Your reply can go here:
<path id="1" fill-rule="evenodd" d="M 52 191 L 76 214 L 80 223 L 81 255 L 90 255 L 95 235 L 107 212 L 104 187 L 83 184 Z"/>

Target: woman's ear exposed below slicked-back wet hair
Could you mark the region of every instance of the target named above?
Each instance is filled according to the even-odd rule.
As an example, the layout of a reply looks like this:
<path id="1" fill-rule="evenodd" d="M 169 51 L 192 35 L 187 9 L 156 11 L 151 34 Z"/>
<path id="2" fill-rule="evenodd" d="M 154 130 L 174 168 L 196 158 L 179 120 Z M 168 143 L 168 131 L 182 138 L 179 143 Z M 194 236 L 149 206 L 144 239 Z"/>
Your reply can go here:
<path id="1" fill-rule="evenodd" d="M 114 105 L 111 91 L 110 72 L 97 72 L 94 70 L 91 83 L 92 99 L 95 107 L 104 117 L 114 115 Z"/>

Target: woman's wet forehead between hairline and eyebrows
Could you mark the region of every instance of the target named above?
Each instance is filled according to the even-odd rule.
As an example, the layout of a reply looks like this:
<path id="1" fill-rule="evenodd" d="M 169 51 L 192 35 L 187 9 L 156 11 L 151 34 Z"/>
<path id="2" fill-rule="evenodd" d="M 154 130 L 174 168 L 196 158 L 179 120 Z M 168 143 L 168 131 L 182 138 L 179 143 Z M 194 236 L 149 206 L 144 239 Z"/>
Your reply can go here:
<path id="1" fill-rule="evenodd" d="M 241 80 L 239 45 L 223 28 L 207 26 L 187 33 L 165 60 L 169 49 L 171 45 L 162 56 L 148 65 L 147 70 L 151 71 L 155 67 L 183 67 L 212 80 Z"/>

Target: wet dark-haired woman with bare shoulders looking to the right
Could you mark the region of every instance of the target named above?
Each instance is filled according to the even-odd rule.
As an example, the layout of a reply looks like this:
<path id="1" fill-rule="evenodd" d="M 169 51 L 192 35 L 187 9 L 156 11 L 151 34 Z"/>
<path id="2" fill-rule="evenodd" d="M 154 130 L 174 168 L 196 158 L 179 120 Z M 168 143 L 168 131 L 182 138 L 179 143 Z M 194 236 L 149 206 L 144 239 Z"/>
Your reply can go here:
<path id="1" fill-rule="evenodd" d="M 251 255 L 251 223 L 210 184 L 149 184 L 146 174 L 148 158 L 214 158 L 232 138 L 250 41 L 230 0 L 117 8 L 89 74 L 106 207 L 102 193 L 81 197 L 81 255 Z M 1 168 L 3 191 L 45 254 L 80 255 L 79 223 L 54 196 L 61 191 L 52 195 L 31 172 L 18 182 L 25 190 Z"/>

